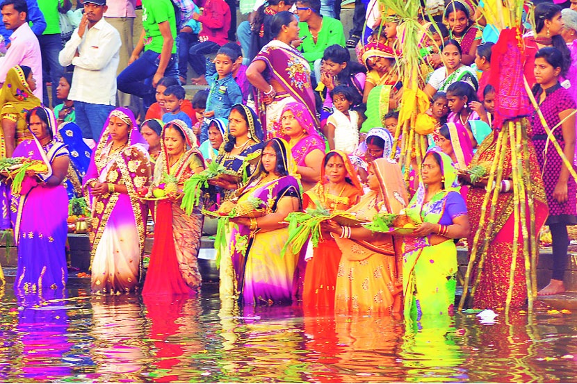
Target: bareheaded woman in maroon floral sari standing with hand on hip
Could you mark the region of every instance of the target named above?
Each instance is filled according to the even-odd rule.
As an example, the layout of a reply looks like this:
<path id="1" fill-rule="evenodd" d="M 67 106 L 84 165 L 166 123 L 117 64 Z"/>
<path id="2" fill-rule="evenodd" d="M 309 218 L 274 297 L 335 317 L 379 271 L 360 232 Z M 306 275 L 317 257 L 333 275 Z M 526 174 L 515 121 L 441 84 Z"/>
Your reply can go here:
<path id="1" fill-rule="evenodd" d="M 298 20 L 289 11 L 278 12 L 270 22 L 275 39 L 266 44 L 247 68 L 248 81 L 257 89 L 257 106 L 266 138 L 279 135 L 281 111 L 298 102 L 316 115 L 309 62 L 291 42 L 299 40 Z"/>

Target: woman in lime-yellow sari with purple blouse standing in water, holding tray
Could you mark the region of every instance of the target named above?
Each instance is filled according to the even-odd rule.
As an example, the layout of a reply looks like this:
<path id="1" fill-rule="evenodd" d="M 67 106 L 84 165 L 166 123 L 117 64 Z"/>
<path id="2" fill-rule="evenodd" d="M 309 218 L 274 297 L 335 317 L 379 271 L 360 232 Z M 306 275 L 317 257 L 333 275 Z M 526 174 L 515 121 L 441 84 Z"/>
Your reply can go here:
<path id="1" fill-rule="evenodd" d="M 469 235 L 464 199 L 455 187 L 457 171 L 449 156 L 427 152 L 422 183 L 406 212 L 418 224 L 403 241 L 405 315 L 451 315 L 457 285 L 457 248 L 453 239 Z"/>

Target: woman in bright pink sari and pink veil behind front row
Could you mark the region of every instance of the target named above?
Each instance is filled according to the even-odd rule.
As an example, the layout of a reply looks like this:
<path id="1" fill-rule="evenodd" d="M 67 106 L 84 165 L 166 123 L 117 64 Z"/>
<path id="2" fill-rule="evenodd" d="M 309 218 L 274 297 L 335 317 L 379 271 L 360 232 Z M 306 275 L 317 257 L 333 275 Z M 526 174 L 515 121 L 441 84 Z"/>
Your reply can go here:
<path id="1" fill-rule="evenodd" d="M 320 169 L 325 157 L 325 140 L 316 130 L 316 122 L 301 103 L 288 103 L 281 113 L 282 138 L 297 163 L 302 190 L 310 190 L 320 181 Z"/>

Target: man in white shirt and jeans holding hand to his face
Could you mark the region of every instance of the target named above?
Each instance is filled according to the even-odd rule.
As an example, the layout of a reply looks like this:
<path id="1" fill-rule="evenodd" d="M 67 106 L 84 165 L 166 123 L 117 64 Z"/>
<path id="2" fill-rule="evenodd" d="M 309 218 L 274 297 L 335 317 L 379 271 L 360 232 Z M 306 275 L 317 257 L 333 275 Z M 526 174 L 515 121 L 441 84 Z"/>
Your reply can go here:
<path id="1" fill-rule="evenodd" d="M 116 69 L 120 34 L 104 19 L 106 0 L 85 0 L 84 15 L 60 51 L 60 65 L 74 65 L 69 100 L 74 100 L 76 124 L 86 139 L 98 141 L 108 114 L 116 105 Z"/>

